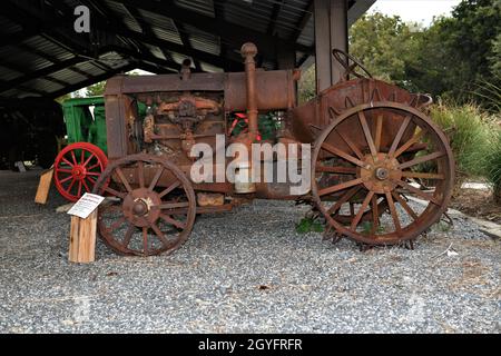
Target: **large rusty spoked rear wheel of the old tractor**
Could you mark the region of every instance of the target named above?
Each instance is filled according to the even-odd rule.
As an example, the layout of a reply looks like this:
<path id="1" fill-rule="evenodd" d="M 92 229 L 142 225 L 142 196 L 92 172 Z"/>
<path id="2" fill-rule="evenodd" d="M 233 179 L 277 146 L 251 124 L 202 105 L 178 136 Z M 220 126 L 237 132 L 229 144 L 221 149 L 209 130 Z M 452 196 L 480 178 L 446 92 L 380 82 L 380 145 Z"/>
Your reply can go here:
<path id="1" fill-rule="evenodd" d="M 360 105 L 336 118 L 313 152 L 313 199 L 328 227 L 367 245 L 412 240 L 450 201 L 454 161 L 421 111 Z"/>

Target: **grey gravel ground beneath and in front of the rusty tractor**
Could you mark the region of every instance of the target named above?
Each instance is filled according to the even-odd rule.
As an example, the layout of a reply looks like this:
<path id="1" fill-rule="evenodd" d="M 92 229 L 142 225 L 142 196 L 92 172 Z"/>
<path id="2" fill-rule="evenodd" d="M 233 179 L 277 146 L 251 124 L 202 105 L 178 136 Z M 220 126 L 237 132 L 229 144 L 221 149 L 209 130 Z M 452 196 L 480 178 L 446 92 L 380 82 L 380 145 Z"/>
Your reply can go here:
<path id="1" fill-rule="evenodd" d="M 500 243 L 468 220 L 361 253 L 299 235 L 289 202 L 197 219 L 174 255 L 67 261 L 69 216 L 37 171 L 0 171 L 1 333 L 500 333 Z M 55 189 L 53 189 L 55 190 Z M 450 245 L 458 253 L 443 253 Z"/>

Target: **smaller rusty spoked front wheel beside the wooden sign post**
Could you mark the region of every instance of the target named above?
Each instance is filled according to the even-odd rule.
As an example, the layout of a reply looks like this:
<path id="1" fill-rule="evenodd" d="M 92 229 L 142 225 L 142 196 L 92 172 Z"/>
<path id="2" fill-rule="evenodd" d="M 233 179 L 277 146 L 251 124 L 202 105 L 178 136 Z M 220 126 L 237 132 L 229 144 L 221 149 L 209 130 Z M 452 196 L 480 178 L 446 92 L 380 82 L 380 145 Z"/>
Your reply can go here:
<path id="1" fill-rule="evenodd" d="M 111 179 L 115 184 L 107 185 Z M 99 208 L 98 231 L 122 255 L 171 253 L 189 236 L 196 216 L 191 184 L 170 161 L 134 155 L 110 164 L 95 192 L 109 196 Z"/>

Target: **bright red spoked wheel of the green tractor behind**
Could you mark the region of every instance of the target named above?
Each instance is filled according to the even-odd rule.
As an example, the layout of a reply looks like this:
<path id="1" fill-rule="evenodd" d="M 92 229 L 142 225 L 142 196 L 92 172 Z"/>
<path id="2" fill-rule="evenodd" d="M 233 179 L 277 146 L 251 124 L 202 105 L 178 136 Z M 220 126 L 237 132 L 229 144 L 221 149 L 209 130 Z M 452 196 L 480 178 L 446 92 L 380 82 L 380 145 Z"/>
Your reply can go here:
<path id="1" fill-rule="evenodd" d="M 53 179 L 59 194 L 77 201 L 91 192 L 97 179 L 108 165 L 108 158 L 97 146 L 77 142 L 65 147 L 53 162 Z"/>

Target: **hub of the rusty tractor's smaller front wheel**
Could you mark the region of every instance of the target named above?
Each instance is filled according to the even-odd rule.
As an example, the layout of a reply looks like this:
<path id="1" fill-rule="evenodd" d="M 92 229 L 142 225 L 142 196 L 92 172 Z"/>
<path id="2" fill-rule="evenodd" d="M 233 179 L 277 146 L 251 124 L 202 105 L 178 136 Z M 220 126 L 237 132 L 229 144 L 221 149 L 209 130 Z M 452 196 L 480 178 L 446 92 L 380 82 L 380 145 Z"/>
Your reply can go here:
<path id="1" fill-rule="evenodd" d="M 134 189 L 124 199 L 122 210 L 126 218 L 138 227 L 147 227 L 155 222 L 160 216 L 159 206 L 161 199 L 155 191 L 146 188 Z"/>

